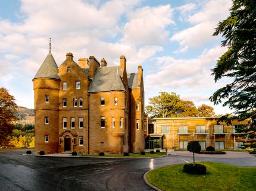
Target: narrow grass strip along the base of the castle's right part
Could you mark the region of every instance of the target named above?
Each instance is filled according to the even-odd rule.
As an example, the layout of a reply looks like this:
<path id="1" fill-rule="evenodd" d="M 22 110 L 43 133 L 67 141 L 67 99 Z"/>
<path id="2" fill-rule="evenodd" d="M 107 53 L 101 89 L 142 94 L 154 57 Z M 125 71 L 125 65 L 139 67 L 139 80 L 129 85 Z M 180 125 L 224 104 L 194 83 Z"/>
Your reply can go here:
<path id="1" fill-rule="evenodd" d="M 87 154 L 79 154 L 79 157 L 115 157 L 115 158 L 144 158 L 144 157 L 161 157 L 166 155 L 166 152 L 155 152 L 154 154 L 150 154 L 149 152 L 146 152 L 145 155 L 141 155 L 141 153 L 131 153 L 129 156 L 124 155 L 118 155 L 118 154 L 110 154 L 105 156 L 99 156 L 99 155 L 87 155 Z"/>

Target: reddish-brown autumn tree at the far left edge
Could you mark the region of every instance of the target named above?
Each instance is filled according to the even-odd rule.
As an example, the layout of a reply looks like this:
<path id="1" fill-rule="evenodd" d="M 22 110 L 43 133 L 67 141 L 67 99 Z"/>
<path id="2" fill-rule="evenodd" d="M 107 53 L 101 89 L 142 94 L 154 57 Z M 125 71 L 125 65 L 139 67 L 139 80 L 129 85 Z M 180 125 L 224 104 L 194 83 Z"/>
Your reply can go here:
<path id="1" fill-rule="evenodd" d="M 17 120 L 14 112 L 17 109 L 15 99 L 6 88 L 0 88 L 0 148 L 10 146 L 10 135 Z"/>

